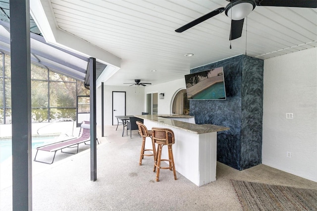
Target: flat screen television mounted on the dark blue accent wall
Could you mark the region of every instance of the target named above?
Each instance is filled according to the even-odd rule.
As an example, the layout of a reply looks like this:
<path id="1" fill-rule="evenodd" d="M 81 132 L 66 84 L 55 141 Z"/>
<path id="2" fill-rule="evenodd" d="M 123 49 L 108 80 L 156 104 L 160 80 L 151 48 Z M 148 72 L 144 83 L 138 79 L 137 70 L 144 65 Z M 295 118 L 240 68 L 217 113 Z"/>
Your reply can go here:
<path id="1" fill-rule="evenodd" d="M 188 100 L 226 100 L 223 67 L 185 75 Z"/>

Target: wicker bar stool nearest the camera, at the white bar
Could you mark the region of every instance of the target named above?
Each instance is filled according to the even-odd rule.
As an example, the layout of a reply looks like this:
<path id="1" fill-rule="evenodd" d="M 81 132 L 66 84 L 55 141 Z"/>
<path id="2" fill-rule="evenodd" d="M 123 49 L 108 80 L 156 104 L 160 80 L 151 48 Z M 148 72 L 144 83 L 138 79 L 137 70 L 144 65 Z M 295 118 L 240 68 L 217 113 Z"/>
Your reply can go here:
<path id="1" fill-rule="evenodd" d="M 175 143 L 174 132 L 168 128 L 153 127 L 152 128 L 152 139 L 153 139 L 154 143 L 158 144 L 157 155 L 156 155 L 156 159 L 154 162 L 154 172 L 156 171 L 156 168 L 158 168 L 157 182 L 159 182 L 159 170 L 160 169 L 173 170 L 174 179 L 176 180 L 177 179 L 176 178 L 176 170 L 175 170 L 173 149 L 172 149 L 172 145 Z M 167 147 L 168 147 L 168 159 L 161 159 L 162 147 L 164 145 L 167 145 Z M 160 166 L 161 161 L 168 161 L 169 167 Z"/>

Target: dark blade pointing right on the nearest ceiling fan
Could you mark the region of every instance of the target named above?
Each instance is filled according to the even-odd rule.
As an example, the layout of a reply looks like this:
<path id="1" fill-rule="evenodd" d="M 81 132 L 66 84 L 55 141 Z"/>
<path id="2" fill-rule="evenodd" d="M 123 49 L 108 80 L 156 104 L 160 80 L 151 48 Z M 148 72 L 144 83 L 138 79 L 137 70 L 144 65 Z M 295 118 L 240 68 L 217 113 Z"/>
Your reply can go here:
<path id="1" fill-rule="evenodd" d="M 317 0 L 257 0 L 257 6 L 317 8 Z"/>

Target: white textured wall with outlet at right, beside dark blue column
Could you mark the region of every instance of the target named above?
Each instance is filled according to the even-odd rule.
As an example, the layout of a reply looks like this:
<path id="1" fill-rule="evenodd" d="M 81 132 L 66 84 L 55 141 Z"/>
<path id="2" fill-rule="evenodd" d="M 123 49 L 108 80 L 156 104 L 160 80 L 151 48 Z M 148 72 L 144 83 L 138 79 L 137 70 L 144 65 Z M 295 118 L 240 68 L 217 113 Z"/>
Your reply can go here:
<path id="1" fill-rule="evenodd" d="M 317 182 L 317 48 L 264 60 L 262 159 Z"/>

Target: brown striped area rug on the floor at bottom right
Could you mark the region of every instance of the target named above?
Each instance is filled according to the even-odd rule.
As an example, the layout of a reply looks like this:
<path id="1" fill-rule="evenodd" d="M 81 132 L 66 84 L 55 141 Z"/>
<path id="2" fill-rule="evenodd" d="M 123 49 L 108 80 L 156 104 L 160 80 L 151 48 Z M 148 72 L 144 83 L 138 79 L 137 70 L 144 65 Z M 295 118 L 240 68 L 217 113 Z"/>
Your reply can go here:
<path id="1" fill-rule="evenodd" d="M 317 211 L 317 190 L 231 180 L 244 211 Z"/>

